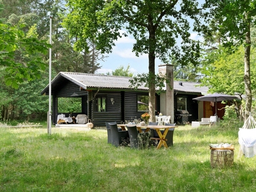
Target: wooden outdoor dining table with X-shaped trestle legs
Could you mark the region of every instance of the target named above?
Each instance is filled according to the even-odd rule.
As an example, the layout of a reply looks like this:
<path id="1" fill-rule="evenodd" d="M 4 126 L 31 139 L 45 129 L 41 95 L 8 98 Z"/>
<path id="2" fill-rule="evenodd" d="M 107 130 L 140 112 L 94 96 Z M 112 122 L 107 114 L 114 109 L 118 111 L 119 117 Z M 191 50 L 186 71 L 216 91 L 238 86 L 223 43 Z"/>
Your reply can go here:
<path id="1" fill-rule="evenodd" d="M 134 125 L 134 124 L 118 124 L 118 127 L 121 127 L 123 131 L 125 131 L 126 125 Z M 149 131 L 150 129 L 155 129 L 159 138 L 151 138 L 152 140 L 159 140 L 159 143 L 156 148 L 161 148 L 162 145 L 164 145 L 165 148 L 168 148 L 168 145 L 166 144 L 166 134 L 168 133 L 168 130 L 170 128 L 175 128 L 177 126 L 169 126 L 169 125 L 136 125 L 139 132 L 141 131 L 141 128 L 146 128 L 145 132 Z M 164 132 L 162 134 L 161 129 L 164 129 Z"/>

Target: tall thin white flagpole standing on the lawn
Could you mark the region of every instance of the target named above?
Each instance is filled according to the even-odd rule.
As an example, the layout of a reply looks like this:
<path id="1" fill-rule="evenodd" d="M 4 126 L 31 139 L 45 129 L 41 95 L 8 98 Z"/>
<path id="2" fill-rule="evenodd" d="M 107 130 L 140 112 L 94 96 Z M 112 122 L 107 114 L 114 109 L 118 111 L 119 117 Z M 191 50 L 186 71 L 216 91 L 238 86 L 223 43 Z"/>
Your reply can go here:
<path id="1" fill-rule="evenodd" d="M 52 17 L 50 16 L 50 44 L 52 44 Z M 49 49 L 49 111 L 47 132 L 51 134 L 52 129 L 52 113 L 51 113 L 51 97 L 52 97 L 52 49 Z"/>

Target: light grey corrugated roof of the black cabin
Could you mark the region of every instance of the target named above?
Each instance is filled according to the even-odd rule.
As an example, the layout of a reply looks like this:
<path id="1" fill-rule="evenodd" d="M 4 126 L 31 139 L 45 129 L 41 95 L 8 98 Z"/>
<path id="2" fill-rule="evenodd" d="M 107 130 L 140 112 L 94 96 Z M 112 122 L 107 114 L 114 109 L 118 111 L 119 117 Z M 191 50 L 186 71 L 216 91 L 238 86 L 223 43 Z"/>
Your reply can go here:
<path id="1" fill-rule="evenodd" d="M 52 90 L 54 88 L 63 84 L 63 80 L 69 80 L 72 83 L 77 84 L 84 90 L 90 89 L 124 89 L 124 90 L 133 90 L 129 88 L 130 83 L 129 79 L 132 77 L 120 77 L 120 76 L 106 76 L 100 74 L 84 74 L 77 72 L 60 72 L 54 79 L 51 81 Z M 188 93 L 198 93 L 205 94 L 208 91 L 206 86 L 199 86 L 200 83 L 192 83 L 192 82 L 180 82 L 174 81 L 173 90 L 174 92 L 188 92 Z M 147 91 L 148 88 L 145 86 L 138 87 L 138 90 Z M 41 94 L 49 92 L 49 84 L 42 90 Z"/>

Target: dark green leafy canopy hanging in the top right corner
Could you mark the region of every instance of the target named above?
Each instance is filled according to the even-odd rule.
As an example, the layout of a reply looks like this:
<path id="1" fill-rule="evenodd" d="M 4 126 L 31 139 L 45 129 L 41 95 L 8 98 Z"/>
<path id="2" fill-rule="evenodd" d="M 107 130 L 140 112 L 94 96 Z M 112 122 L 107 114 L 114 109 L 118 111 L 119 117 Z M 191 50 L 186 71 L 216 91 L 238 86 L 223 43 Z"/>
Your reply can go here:
<path id="1" fill-rule="evenodd" d="M 215 32 L 211 35 L 218 32 L 222 45 L 230 50 L 234 45 L 248 46 L 246 33 L 251 30 L 250 24 L 255 23 L 255 1 L 205 1 L 204 6 L 209 8 L 207 21 L 211 32 Z"/>

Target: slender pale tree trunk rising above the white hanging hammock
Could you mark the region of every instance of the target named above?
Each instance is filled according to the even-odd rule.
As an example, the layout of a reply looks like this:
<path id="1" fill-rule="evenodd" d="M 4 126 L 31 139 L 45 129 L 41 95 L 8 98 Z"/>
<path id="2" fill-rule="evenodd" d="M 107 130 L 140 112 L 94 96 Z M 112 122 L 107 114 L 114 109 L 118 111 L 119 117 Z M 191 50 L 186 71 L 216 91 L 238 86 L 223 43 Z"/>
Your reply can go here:
<path id="1" fill-rule="evenodd" d="M 250 51 L 251 51 L 251 36 L 250 36 L 250 24 L 248 24 L 248 32 L 245 36 L 245 48 L 244 48 L 244 88 L 246 93 L 245 115 L 246 120 L 250 115 L 252 108 L 252 90 L 251 90 L 251 76 L 250 76 Z"/>

